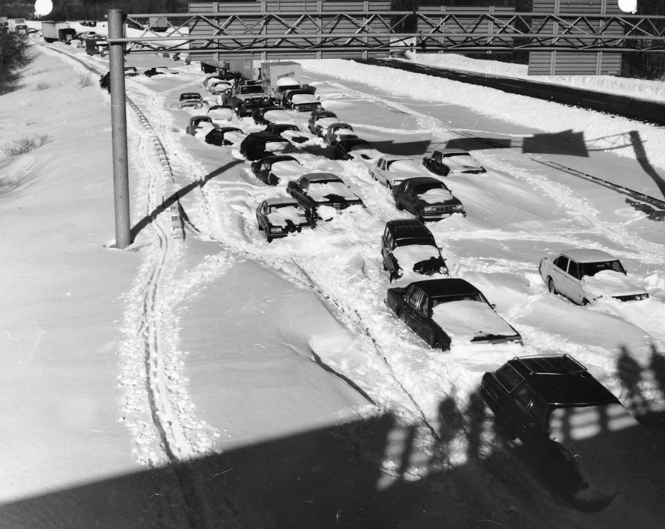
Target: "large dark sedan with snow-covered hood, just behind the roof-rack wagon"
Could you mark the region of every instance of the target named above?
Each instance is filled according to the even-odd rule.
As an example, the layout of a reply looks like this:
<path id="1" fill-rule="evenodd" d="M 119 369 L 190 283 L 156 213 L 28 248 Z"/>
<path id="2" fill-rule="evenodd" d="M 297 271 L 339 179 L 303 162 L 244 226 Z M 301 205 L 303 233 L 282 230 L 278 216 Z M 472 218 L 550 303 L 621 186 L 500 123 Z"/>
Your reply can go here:
<path id="1" fill-rule="evenodd" d="M 434 349 L 453 345 L 517 343 L 522 337 L 463 279 L 427 279 L 389 288 L 387 307 Z"/>

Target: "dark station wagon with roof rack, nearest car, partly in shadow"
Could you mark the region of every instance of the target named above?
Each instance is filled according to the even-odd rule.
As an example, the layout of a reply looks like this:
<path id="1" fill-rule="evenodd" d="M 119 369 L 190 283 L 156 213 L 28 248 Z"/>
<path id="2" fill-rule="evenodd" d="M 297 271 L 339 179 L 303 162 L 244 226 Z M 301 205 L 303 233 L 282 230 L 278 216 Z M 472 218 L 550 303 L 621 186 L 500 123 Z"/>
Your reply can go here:
<path id="1" fill-rule="evenodd" d="M 573 357 L 515 357 L 485 373 L 480 391 L 508 438 L 556 465 L 575 508 L 602 510 L 630 476 L 657 490 L 651 436 Z"/>

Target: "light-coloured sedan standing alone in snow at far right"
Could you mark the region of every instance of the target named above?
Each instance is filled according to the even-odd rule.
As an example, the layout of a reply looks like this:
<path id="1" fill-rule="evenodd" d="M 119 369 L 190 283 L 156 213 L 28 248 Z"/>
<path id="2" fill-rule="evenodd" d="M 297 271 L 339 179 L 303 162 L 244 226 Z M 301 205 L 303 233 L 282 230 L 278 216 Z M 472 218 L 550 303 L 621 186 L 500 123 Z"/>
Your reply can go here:
<path id="1" fill-rule="evenodd" d="M 549 292 L 578 305 L 598 298 L 639 301 L 649 297 L 644 287 L 628 278 L 621 261 L 605 251 L 566 250 L 555 258 L 542 258 L 538 269 Z"/>

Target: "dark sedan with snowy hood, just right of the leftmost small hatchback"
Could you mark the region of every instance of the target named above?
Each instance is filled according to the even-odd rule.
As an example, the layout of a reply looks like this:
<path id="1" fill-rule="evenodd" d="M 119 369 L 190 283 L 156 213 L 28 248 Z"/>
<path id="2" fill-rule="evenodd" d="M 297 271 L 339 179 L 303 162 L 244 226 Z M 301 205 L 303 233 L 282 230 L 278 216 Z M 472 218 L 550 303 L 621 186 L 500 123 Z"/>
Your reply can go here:
<path id="1" fill-rule="evenodd" d="M 351 206 L 362 206 L 362 200 L 336 174 L 310 172 L 287 184 L 286 192 L 307 212 L 312 225 L 317 219 L 330 220 L 335 213 Z"/>

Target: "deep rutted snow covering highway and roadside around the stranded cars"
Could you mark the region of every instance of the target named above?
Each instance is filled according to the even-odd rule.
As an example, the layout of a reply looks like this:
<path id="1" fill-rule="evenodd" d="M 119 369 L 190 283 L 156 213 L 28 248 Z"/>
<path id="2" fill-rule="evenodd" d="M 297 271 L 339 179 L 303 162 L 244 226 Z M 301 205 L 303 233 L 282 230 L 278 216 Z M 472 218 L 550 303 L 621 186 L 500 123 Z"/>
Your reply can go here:
<path id="1" fill-rule="evenodd" d="M 339 174 L 367 207 L 268 244 L 256 206 L 286 196 L 285 185 L 258 181 L 238 147 L 185 134 L 200 111 L 176 102 L 205 94 L 197 64 L 127 57 L 179 75 L 127 79 L 147 122 L 128 107 L 136 237 L 112 249 L 109 96 L 96 77 L 82 86 L 79 62 L 33 42 L 22 87 L 0 98 L 3 144 L 48 135 L 28 154 L 0 154 L 0 526 L 440 527 L 442 512 L 450 527 L 660 526 L 654 491 L 639 486 L 596 514 L 551 496 L 495 434 L 478 387 L 515 355 L 568 353 L 628 409 L 665 404 L 663 224 L 546 165 L 663 199 L 662 129 L 427 75 L 303 61 L 324 107 L 381 152 L 419 160 L 461 147 L 488 169 L 445 179 L 468 215 L 429 228 L 452 276 L 496 303 L 524 347 L 442 353 L 384 306 L 380 235 L 411 215 L 369 177 L 369 162 L 333 161 L 312 137 L 296 158 Z M 456 56 L 416 60 L 524 75 Z M 547 79 L 559 81 L 572 84 Z M 663 93 L 613 78 L 576 86 Z M 307 116 L 296 118 L 306 130 Z M 175 192 L 184 241 L 163 208 Z M 617 256 L 650 298 L 578 307 L 549 294 L 538 263 L 571 247 Z"/>

